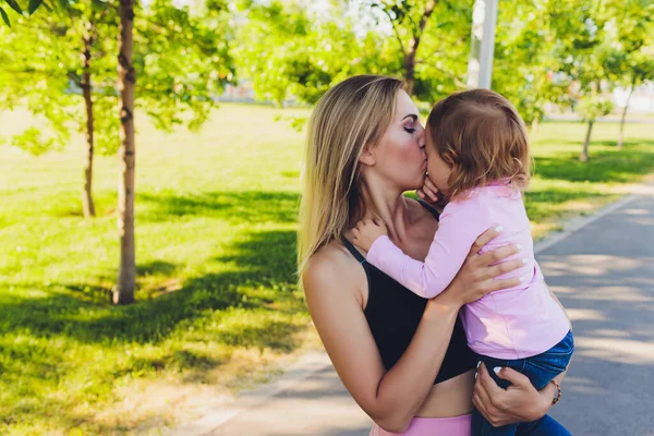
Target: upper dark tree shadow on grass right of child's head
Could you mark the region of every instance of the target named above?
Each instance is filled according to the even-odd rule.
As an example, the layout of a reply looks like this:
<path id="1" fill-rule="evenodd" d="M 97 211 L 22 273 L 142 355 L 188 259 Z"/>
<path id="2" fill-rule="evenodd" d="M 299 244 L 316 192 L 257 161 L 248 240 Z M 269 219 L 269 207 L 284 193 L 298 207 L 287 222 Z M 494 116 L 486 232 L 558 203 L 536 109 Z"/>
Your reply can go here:
<path id="1" fill-rule="evenodd" d="M 615 142 L 603 141 L 598 144 L 615 145 Z M 566 180 L 570 182 L 630 182 L 640 175 L 654 171 L 654 141 L 641 141 L 634 144 L 646 144 L 652 152 L 629 149 L 593 150 L 589 149 L 590 160 L 579 161 L 579 154 L 566 153 L 560 157 L 536 157 L 536 174 L 547 180 Z M 581 146 L 579 148 L 581 152 Z"/>

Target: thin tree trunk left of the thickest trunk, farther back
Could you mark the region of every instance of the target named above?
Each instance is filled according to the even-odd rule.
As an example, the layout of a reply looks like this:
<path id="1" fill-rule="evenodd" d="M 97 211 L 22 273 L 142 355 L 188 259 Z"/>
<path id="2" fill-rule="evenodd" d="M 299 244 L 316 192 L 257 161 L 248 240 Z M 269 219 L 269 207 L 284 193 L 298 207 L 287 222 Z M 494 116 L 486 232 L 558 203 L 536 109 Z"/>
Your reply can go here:
<path id="1" fill-rule="evenodd" d="M 86 26 L 90 31 L 90 24 Z M 82 190 L 82 209 L 84 217 L 95 217 L 95 204 L 93 202 L 93 100 L 90 98 L 90 45 L 92 35 L 84 35 L 84 51 L 82 52 L 82 94 L 86 108 L 86 147 L 84 149 L 84 189 Z"/>

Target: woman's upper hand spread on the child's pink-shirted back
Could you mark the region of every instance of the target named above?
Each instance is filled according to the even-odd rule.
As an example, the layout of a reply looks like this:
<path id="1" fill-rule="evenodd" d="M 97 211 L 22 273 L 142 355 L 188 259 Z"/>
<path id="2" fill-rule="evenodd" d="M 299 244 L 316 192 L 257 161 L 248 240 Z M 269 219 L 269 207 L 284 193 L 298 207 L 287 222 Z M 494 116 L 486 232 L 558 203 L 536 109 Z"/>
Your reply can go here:
<path id="1" fill-rule="evenodd" d="M 480 254 L 480 251 L 492 239 L 501 232 L 501 228 L 488 229 L 476 239 L 461 269 L 436 299 L 455 299 L 456 304 L 472 303 L 488 292 L 511 288 L 520 283 L 519 277 L 496 280 L 495 277 L 522 267 L 521 259 L 498 263 L 520 251 L 516 244 L 509 244 L 491 252 Z M 496 265 L 495 265 L 496 264 Z"/>

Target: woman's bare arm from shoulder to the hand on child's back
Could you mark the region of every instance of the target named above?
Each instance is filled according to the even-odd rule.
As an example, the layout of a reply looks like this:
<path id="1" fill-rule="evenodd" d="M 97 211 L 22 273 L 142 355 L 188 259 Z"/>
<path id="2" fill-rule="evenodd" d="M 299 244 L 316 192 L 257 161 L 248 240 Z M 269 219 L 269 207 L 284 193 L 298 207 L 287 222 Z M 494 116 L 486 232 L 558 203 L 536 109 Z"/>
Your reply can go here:
<path id="1" fill-rule="evenodd" d="M 440 368 L 459 308 L 486 293 L 517 284 L 494 280 L 522 266 L 501 261 L 518 250 L 505 246 L 477 255 L 497 235 L 480 237 L 450 287 L 427 303 L 420 326 L 398 363 L 386 371 L 356 295 L 367 286 L 349 253 L 328 246 L 310 261 L 303 276 L 306 303 L 331 362 L 359 405 L 383 428 L 400 433 L 420 409 Z M 493 265 L 493 266 L 492 266 Z"/>

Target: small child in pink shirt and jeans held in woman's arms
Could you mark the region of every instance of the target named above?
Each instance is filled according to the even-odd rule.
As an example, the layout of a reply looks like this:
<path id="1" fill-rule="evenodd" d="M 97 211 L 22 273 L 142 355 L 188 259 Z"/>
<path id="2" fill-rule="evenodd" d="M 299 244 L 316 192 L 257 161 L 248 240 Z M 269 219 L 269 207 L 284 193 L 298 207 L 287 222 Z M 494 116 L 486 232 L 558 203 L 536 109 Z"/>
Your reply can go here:
<path id="1" fill-rule="evenodd" d="M 566 371 L 574 349 L 568 318 L 550 295 L 534 259 L 522 191 L 529 182 L 529 145 L 522 119 L 497 93 L 473 89 L 439 101 L 427 120 L 429 179 L 448 204 L 425 262 L 402 253 L 386 227 L 372 220 L 353 229 L 367 262 L 414 293 L 443 292 L 463 265 L 475 239 L 491 227 L 501 233 L 482 253 L 517 243 L 524 266 L 498 278 L 518 276 L 520 284 L 492 292 L 461 313 L 468 343 L 488 368 L 509 366 L 536 389 Z M 491 371 L 499 386 L 508 382 Z M 560 389 L 554 402 L 560 397 Z M 516 435 L 537 423 L 493 427 L 473 411 L 472 435 Z M 552 434 L 552 433 L 549 433 Z M 569 433 L 560 426 L 558 434 Z"/>

